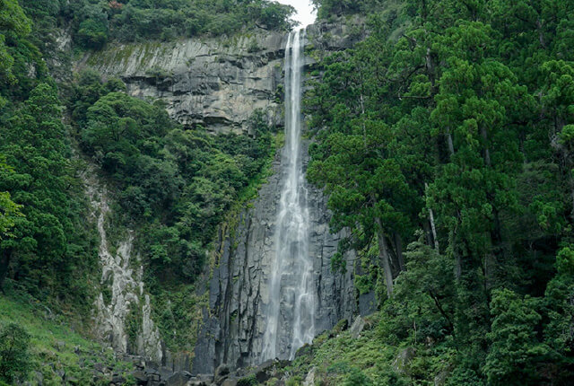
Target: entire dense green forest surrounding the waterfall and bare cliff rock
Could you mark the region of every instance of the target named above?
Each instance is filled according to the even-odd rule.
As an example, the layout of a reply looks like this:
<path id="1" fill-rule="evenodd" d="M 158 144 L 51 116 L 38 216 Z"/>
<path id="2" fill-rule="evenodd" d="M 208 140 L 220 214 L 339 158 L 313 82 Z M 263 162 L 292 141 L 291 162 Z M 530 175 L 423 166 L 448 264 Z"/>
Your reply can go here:
<path id="1" fill-rule="evenodd" d="M 287 365 L 287 384 L 311 366 L 317 384 L 570 384 L 574 3 L 312 3 L 318 22 L 362 23 L 353 48 L 326 55 L 309 43 L 308 179 L 328 196 L 331 230 L 349 231 L 332 269 L 355 269 L 344 253 L 356 251 L 357 294 L 375 291 L 379 311 L 362 340 L 317 338 Z M 55 330 L 90 318 L 100 268 L 88 164 L 116 192 L 116 231 L 145 234 L 137 248 L 165 306 L 154 310 L 161 332 L 185 331 L 218 225 L 256 195 L 281 145 L 264 111 L 252 136 L 213 135 L 94 70 L 58 82 L 55 31 L 77 58 L 147 39 L 288 31 L 292 13 L 265 0 L 0 0 L 0 297 L 15 299 L 0 303 L 0 385 L 54 361 L 29 355 L 30 330 L 4 323 L 11 308 L 32 304 L 22 320 L 64 315 Z M 162 338 L 193 349 L 185 334 Z M 411 357 L 397 365 L 401 355 Z"/>

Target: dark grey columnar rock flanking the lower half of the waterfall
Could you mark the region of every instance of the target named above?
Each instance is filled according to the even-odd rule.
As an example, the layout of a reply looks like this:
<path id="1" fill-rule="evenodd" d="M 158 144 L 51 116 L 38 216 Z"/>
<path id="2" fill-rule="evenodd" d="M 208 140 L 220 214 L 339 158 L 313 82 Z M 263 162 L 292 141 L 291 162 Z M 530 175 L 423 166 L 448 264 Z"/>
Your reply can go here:
<path id="1" fill-rule="evenodd" d="M 274 163 L 279 169 L 279 160 Z M 219 364 L 233 368 L 257 364 L 263 348 L 264 314 L 269 297 L 270 267 L 274 258 L 274 231 L 281 187 L 274 173 L 260 189 L 253 206 L 239 215 L 238 224 L 222 228 L 209 282 L 209 310 L 196 346 L 193 373 L 213 373 Z M 326 198 L 309 191 L 309 253 L 314 260 L 317 291 L 317 333 L 332 329 L 338 320 L 351 320 L 357 311 L 352 269 L 331 270 L 331 257 L 341 234 L 329 232 Z M 354 255 L 345 255 L 347 267 Z"/>

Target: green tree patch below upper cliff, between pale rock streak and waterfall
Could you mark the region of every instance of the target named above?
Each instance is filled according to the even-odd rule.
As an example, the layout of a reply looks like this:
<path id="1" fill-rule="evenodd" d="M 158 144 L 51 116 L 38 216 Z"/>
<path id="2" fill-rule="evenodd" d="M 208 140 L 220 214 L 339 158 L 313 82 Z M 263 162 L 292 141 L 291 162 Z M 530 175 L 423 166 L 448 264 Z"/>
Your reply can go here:
<path id="1" fill-rule="evenodd" d="M 119 189 L 120 221 L 145 234 L 136 242 L 158 304 L 155 320 L 169 347 L 190 350 L 198 300 L 188 285 L 204 269 L 217 226 L 265 175 L 274 156 L 272 132 L 259 110 L 248 122 L 251 136 L 184 130 L 160 103 L 121 89 L 85 72 L 70 109 L 83 151 Z"/>

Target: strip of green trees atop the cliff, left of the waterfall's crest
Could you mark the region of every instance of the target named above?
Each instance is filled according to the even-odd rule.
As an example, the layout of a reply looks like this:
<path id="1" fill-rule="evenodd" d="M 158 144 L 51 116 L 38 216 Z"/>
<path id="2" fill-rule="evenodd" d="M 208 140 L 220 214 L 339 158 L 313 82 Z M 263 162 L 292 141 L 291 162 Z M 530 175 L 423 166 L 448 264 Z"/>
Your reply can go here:
<path id="1" fill-rule="evenodd" d="M 263 28 L 288 31 L 291 6 L 268 0 L 21 0 L 43 34 L 70 28 L 74 43 L 100 49 L 108 41 L 230 35 Z M 44 36 L 42 39 L 46 39 Z"/>

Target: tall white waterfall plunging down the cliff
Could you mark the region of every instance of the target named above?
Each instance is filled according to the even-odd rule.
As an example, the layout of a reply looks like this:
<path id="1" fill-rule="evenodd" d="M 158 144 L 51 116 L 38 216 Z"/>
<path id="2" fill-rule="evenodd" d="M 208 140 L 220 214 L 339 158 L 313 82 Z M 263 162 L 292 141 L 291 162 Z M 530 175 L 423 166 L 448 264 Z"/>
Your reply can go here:
<path id="1" fill-rule="evenodd" d="M 304 31 L 293 31 L 285 49 L 285 147 L 283 189 L 277 212 L 275 260 L 261 359 L 293 358 L 315 333 L 313 260 L 301 149 L 301 81 Z"/>

